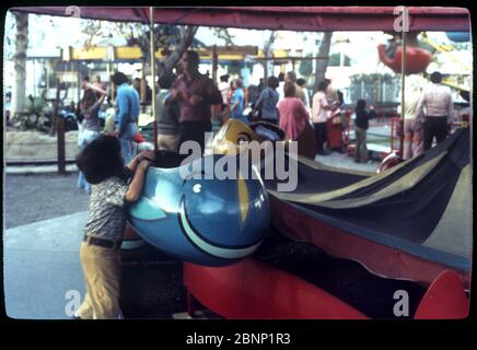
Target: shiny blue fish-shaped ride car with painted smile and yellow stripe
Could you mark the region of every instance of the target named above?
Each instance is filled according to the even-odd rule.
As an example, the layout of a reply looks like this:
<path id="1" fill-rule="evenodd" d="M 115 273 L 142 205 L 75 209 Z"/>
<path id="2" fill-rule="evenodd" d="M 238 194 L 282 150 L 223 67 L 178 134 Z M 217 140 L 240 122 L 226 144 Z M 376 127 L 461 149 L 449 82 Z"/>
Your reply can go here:
<path id="1" fill-rule="evenodd" d="M 228 171 L 233 162 L 228 174 L 234 178 L 214 175 L 218 165 Z M 255 167 L 241 172 L 237 156 L 211 154 L 177 167 L 150 166 L 128 221 L 144 241 L 181 260 L 225 266 L 260 245 L 268 196 Z"/>

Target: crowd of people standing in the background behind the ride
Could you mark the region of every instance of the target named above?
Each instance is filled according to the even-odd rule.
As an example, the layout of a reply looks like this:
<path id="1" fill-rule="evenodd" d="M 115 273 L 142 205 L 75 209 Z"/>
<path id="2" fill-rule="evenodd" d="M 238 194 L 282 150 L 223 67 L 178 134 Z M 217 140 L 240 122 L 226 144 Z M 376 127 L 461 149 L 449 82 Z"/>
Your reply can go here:
<path id="1" fill-rule="evenodd" d="M 304 79 L 296 79 L 293 71 L 278 77 L 260 79 L 257 85 L 244 86 L 240 78 L 221 75 L 218 83 L 208 74 L 199 72 L 200 59 L 196 51 L 186 51 L 175 70 L 159 79 L 156 95 L 158 148 L 177 152 L 186 141 L 196 141 L 202 152 L 206 148 L 205 133 L 212 131 L 212 121 L 222 125 L 234 118 L 245 124 L 266 121 L 283 129 L 288 140 L 298 140 L 306 126 L 313 128 L 316 138 L 315 154 L 327 155 L 327 122 L 340 118 L 342 129 L 346 119 L 342 93 L 333 89 L 329 80 L 317 84 L 312 94 Z M 405 160 L 419 155 L 431 148 L 433 139 L 442 142 L 455 119 L 451 90 L 441 84 L 439 72 L 431 74 L 432 84 L 426 89 L 420 80 L 409 77 L 406 89 L 404 119 Z M 83 79 L 83 95 L 78 107 L 80 132 L 78 144 L 80 151 L 101 132 L 115 136 L 121 144 L 125 162 L 129 162 L 138 141 L 143 141 L 138 132 L 140 114 L 141 81 L 132 82 L 121 73 L 112 77 L 115 86 L 115 100 L 107 92 L 105 84 L 96 77 L 93 84 L 89 78 Z M 146 101 L 152 101 L 149 86 Z M 104 101 L 115 106 L 115 115 L 101 124 L 98 113 Z M 144 101 L 144 98 L 142 98 Z M 356 102 L 353 130 L 356 135 L 354 161 L 369 161 L 367 131 L 369 120 L 375 117 L 374 107 L 368 108 L 364 100 Z M 84 176 L 80 173 L 78 187 L 91 191 Z"/>

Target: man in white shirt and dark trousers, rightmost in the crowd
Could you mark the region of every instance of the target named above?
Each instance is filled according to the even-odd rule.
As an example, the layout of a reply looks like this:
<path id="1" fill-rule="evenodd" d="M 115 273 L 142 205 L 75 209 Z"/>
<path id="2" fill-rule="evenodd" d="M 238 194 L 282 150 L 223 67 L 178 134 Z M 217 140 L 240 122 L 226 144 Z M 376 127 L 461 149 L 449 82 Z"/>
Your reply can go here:
<path id="1" fill-rule="evenodd" d="M 451 89 L 441 84 L 442 74 L 431 74 L 432 84 L 428 86 L 419 98 L 416 115 L 423 118 L 423 150 L 431 148 L 435 137 L 438 143 L 445 140 L 449 127 L 455 118 Z M 424 113 L 426 109 L 426 113 Z"/>

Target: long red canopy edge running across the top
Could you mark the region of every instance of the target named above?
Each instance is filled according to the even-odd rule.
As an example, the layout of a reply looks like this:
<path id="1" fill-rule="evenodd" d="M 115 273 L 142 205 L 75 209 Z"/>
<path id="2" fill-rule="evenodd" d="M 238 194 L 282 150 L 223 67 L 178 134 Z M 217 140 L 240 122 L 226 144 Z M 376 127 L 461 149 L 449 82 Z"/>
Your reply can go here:
<path id="1" fill-rule="evenodd" d="M 395 7 L 187 7 L 155 8 L 156 23 L 283 31 L 394 31 Z M 464 8 L 408 7 L 410 31 L 469 31 Z M 11 11 L 71 16 L 67 7 L 22 7 Z M 80 7 L 80 18 L 149 22 L 149 8 Z"/>

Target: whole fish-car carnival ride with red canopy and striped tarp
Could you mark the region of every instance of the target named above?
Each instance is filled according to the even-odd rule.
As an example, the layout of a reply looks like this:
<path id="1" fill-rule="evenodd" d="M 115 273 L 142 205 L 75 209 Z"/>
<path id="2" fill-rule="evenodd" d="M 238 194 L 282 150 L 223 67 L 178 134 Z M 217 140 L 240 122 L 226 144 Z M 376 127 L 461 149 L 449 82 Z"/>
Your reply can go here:
<path id="1" fill-rule="evenodd" d="M 82 18 L 151 25 L 393 31 L 395 23 L 391 7 L 80 10 Z M 414 32 L 469 31 L 465 9 L 406 10 Z M 12 11 L 66 15 L 65 8 Z M 447 35 L 464 39 L 463 34 Z M 403 80 L 405 74 L 422 72 L 432 58 L 412 45 L 397 47 L 392 58 L 384 47 L 377 50 L 383 63 L 402 73 Z M 244 138 L 265 140 L 257 127 L 237 120 L 225 124 L 216 136 L 216 153 L 222 152 L 219 145 L 224 140 L 240 151 Z M 272 142 L 287 143 L 280 135 Z M 292 164 L 293 155 L 287 156 Z M 210 154 L 188 165 L 196 165 L 201 176 L 201 165 L 231 158 Z M 184 261 L 190 316 L 198 301 L 228 318 L 386 317 L 368 306 L 383 299 L 393 303 L 389 290 L 405 289 L 414 302 L 408 317 L 467 317 L 472 265 L 468 130 L 457 130 L 424 154 L 372 176 L 299 155 L 299 184 L 292 192 L 276 190 L 280 179 L 244 174 L 225 182 L 200 176 L 183 179 L 178 155 L 160 153 L 159 159 L 162 163 L 147 174 L 140 201 L 129 210 L 129 224 L 150 245 Z M 254 165 L 251 172 L 263 171 L 261 163 Z M 287 248 L 279 250 L 280 244 Z M 301 249 L 302 255 L 298 254 Z M 365 285 L 358 285 L 356 275 L 368 281 Z M 358 290 L 345 295 L 342 289 L 350 280 Z M 398 317 L 392 315 L 392 306 L 389 313 Z"/>

